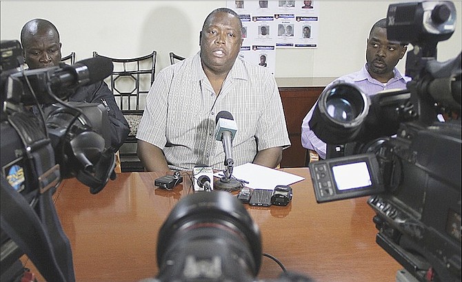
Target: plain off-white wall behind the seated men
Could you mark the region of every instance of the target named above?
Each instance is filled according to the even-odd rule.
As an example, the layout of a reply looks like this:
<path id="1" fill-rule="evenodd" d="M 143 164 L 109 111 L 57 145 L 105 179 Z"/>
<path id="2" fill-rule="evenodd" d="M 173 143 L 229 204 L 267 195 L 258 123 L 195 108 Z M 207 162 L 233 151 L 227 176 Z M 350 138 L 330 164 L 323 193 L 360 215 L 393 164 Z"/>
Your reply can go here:
<path id="1" fill-rule="evenodd" d="M 277 78 L 336 78 L 354 72 L 365 62 L 371 25 L 386 16 L 396 1 L 323 1 L 319 47 L 277 50 Z M 462 50 L 462 1 L 451 39 L 439 43 L 439 61 Z M 199 50 L 199 31 L 214 8 L 225 1 L 1 1 L 1 40 L 18 39 L 26 21 L 52 21 L 61 34 L 63 56 L 74 51 L 77 61 L 99 54 L 128 58 L 157 50 L 157 72 L 170 64 L 173 51 L 191 56 Z M 404 60 L 399 69 L 404 71 Z M 308 81 L 308 80 L 307 80 Z"/>

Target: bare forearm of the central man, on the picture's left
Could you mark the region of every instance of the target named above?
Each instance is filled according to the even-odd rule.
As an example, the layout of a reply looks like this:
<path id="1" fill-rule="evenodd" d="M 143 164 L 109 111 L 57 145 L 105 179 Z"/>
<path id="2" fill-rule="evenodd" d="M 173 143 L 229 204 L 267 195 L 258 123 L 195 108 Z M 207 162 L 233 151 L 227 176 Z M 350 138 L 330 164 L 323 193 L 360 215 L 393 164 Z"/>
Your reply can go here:
<path id="1" fill-rule="evenodd" d="M 153 144 L 138 140 L 137 155 L 146 171 L 157 171 L 161 173 L 170 171 L 163 151 Z"/>

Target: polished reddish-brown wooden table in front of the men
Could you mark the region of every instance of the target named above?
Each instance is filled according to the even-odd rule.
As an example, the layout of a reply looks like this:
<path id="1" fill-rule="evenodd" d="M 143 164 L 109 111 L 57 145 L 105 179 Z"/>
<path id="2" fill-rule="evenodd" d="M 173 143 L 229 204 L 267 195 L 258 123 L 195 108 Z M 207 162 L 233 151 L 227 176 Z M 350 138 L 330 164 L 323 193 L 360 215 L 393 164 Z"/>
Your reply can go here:
<path id="1" fill-rule="evenodd" d="M 319 282 L 395 280 L 401 265 L 375 243 L 367 197 L 317 204 L 308 168 L 282 170 L 305 177 L 292 184 L 288 206 L 245 205 L 261 230 L 263 252 Z M 54 199 L 72 245 L 77 281 L 138 281 L 157 274 L 161 224 L 190 193 L 187 176 L 173 191 L 153 185 L 160 176 L 120 173 L 97 195 L 76 179 L 63 181 Z M 30 262 L 26 266 L 33 269 Z M 277 263 L 263 257 L 259 279 L 280 273 Z"/>

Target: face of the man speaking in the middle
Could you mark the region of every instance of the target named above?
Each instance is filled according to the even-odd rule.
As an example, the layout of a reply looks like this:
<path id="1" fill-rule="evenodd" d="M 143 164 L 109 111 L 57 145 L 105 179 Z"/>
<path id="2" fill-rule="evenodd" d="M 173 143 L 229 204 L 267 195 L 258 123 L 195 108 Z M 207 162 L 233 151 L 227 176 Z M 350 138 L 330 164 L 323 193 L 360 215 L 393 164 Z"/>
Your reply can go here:
<path id="1" fill-rule="evenodd" d="M 204 71 L 228 73 L 242 45 L 239 18 L 217 12 L 201 32 L 201 60 Z"/>

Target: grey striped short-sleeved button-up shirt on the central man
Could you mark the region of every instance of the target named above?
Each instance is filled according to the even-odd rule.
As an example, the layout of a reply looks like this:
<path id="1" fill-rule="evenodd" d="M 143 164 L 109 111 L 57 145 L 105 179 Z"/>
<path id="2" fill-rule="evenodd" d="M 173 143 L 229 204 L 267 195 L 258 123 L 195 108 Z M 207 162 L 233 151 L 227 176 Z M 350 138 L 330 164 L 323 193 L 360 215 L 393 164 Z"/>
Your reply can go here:
<path id="1" fill-rule="evenodd" d="M 203 72 L 200 52 L 159 72 L 137 138 L 162 149 L 170 169 L 191 170 L 197 164 L 224 169 L 223 144 L 214 135 L 220 111 L 229 111 L 237 122 L 235 166 L 252 162 L 258 151 L 290 146 L 272 74 L 238 57 L 217 95 Z"/>

